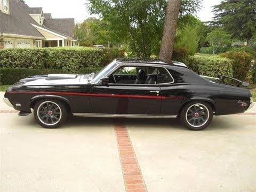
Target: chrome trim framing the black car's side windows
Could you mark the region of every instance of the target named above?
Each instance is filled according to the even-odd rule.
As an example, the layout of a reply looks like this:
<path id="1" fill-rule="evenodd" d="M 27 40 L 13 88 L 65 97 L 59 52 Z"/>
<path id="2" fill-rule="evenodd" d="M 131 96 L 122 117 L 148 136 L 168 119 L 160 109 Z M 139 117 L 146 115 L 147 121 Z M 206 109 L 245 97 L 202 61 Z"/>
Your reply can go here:
<path id="1" fill-rule="evenodd" d="M 174 78 L 172 77 L 172 75 L 170 74 L 169 70 L 167 70 L 166 67 L 163 67 L 163 66 L 159 66 L 159 65 L 156 65 L 156 64 L 151 64 L 151 63 L 138 63 L 138 62 L 134 62 L 134 63 L 117 63 L 117 67 L 114 68 L 113 70 L 109 71 L 108 74 L 106 74 L 103 78 L 105 77 L 108 77 L 109 75 L 111 75 L 114 71 L 116 71 L 117 69 L 123 67 L 123 66 L 131 66 L 131 67 L 139 67 L 139 66 L 146 66 L 146 67 L 157 67 L 157 68 L 164 68 L 167 73 L 171 76 L 172 78 L 172 82 L 167 82 L 167 83 L 159 83 L 159 84 L 155 84 L 155 85 L 166 85 L 166 84 L 172 84 L 174 83 Z M 99 82 L 94 82 L 94 83 L 100 83 L 101 81 Z M 127 85 L 127 84 L 118 84 L 118 85 Z M 134 84 L 130 84 L 130 85 L 134 85 Z M 144 85 L 145 84 L 137 84 L 137 85 Z"/>

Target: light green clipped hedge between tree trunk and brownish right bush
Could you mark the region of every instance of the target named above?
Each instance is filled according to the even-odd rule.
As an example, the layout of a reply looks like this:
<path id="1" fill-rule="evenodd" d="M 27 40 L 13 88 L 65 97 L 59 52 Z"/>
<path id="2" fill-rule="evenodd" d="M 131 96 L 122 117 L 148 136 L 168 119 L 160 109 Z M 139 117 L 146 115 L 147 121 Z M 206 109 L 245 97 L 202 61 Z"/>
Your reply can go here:
<path id="1" fill-rule="evenodd" d="M 199 75 L 217 77 L 233 76 L 231 60 L 218 55 L 194 55 L 187 59 L 186 65 Z"/>

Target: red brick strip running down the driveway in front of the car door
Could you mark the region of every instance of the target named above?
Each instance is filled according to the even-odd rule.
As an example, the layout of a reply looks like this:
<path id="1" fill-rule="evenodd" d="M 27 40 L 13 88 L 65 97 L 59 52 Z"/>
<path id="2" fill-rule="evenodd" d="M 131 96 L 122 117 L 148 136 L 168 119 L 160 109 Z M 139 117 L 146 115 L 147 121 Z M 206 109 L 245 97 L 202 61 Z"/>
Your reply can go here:
<path id="1" fill-rule="evenodd" d="M 125 124 L 115 119 L 114 129 L 126 191 L 146 192 L 147 188 Z"/>

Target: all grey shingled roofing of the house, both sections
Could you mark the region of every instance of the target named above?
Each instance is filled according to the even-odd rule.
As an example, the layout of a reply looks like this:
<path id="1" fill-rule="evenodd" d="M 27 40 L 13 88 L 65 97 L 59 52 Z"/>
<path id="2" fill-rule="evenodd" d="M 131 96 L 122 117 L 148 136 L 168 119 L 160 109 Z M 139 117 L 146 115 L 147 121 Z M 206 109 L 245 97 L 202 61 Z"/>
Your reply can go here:
<path id="1" fill-rule="evenodd" d="M 51 30 L 59 35 L 74 38 L 74 19 L 51 19 L 51 13 L 45 13 L 44 17 L 46 19 L 44 19 L 43 26 L 40 26 L 32 17 L 30 17 L 29 14 L 41 14 L 42 7 L 30 8 L 25 3 L 17 0 L 10 0 L 9 9 L 10 14 L 6 14 L 0 11 L 1 34 L 5 33 L 44 37 L 35 27 L 31 25 L 32 23 L 38 27 Z"/>

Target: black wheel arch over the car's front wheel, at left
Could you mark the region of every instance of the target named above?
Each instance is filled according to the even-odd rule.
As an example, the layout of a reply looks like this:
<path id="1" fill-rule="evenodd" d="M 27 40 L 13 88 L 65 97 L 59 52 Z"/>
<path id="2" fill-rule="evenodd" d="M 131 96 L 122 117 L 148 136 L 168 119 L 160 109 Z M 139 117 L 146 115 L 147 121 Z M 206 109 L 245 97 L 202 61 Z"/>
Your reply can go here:
<path id="1" fill-rule="evenodd" d="M 67 107 L 67 110 L 69 112 L 71 112 L 71 107 L 69 105 L 69 100 L 65 97 L 59 96 L 59 95 L 36 95 L 35 97 L 31 98 L 31 103 L 30 103 L 30 108 L 34 109 L 35 104 L 42 99 L 55 99 L 55 100 L 59 100 L 61 102 L 63 102 L 65 104 L 65 106 Z"/>

